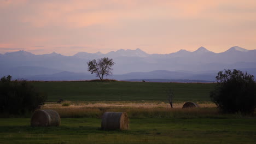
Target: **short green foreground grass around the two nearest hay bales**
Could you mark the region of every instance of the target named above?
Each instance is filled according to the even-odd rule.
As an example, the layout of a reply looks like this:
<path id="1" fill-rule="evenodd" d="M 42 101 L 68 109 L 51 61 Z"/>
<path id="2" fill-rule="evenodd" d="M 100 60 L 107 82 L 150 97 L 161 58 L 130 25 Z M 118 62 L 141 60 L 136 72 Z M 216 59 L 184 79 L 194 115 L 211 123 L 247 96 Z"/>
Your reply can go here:
<path id="1" fill-rule="evenodd" d="M 0 118 L 0 143 L 255 143 L 255 118 L 130 119 L 128 131 L 102 131 L 99 118 L 62 118 L 32 128 L 29 118 Z"/>

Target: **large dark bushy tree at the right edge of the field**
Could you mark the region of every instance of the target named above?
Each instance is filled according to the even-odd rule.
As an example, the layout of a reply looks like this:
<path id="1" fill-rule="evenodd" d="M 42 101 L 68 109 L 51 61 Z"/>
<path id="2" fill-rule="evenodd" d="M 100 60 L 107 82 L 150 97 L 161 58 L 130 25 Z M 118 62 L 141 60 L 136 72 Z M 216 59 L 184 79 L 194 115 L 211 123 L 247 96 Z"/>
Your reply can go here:
<path id="1" fill-rule="evenodd" d="M 254 76 L 240 70 L 219 71 L 217 85 L 210 97 L 220 110 L 227 113 L 253 113 L 256 108 Z"/>

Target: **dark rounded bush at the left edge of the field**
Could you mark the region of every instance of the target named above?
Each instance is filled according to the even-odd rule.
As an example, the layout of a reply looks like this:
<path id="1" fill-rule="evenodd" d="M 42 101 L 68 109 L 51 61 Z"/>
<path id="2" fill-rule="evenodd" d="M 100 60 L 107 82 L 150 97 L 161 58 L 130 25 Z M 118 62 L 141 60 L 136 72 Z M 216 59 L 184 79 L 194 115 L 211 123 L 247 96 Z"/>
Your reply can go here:
<path id="1" fill-rule="evenodd" d="M 11 76 L 0 81 L 0 112 L 21 115 L 31 113 L 44 104 L 46 94 L 39 93 L 25 80 L 11 81 Z"/>

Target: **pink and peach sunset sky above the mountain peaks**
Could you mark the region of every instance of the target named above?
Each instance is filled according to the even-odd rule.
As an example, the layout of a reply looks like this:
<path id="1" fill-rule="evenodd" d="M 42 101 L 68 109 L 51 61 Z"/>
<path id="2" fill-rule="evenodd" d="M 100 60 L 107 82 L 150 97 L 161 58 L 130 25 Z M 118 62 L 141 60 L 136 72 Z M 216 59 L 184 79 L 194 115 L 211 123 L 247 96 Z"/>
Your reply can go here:
<path id="1" fill-rule="evenodd" d="M 0 0 L 0 53 L 256 49 L 255 0 Z"/>

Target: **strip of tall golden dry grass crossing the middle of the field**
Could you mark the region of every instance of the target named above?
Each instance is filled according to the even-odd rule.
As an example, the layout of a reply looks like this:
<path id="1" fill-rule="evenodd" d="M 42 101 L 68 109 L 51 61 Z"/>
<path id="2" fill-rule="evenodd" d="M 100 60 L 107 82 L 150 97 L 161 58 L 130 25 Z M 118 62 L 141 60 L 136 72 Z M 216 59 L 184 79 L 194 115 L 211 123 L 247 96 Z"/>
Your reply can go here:
<path id="1" fill-rule="evenodd" d="M 69 106 L 62 106 L 68 104 Z M 42 109 L 56 110 L 61 118 L 101 118 L 106 111 L 127 112 L 130 118 L 225 118 L 215 104 L 199 103 L 196 109 L 182 109 L 184 103 L 174 103 L 174 109 L 164 101 L 64 101 L 62 104 L 46 103 Z"/>

